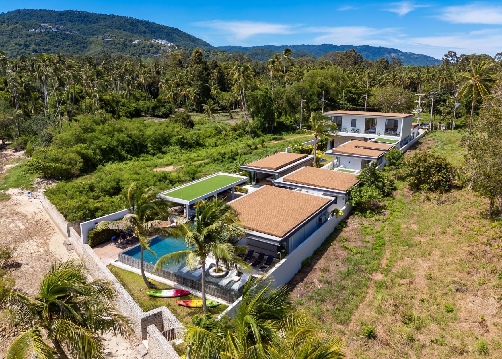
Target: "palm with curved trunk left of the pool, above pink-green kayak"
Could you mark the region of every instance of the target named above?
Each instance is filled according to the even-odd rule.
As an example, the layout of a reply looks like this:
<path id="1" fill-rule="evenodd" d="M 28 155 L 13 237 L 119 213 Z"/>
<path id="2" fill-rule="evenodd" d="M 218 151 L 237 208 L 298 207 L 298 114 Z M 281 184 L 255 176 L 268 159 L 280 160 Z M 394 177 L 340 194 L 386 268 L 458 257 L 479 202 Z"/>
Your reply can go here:
<path id="1" fill-rule="evenodd" d="M 145 276 L 143 268 L 143 252 L 148 250 L 153 255 L 156 255 L 150 249 L 151 235 L 170 236 L 172 228 L 172 220 L 177 218 L 175 211 L 179 207 L 173 207 L 173 203 L 164 199 L 158 198 L 157 194 L 160 191 L 155 187 L 147 189 L 138 188 L 136 182 L 133 182 L 127 192 L 126 197 L 122 199 L 122 206 L 129 210 L 129 213 L 118 221 L 101 221 L 96 225 L 97 231 L 103 229 L 116 229 L 121 231 L 131 230 L 136 233 L 140 239 L 140 270 L 141 276 L 148 288 L 153 285 Z"/>

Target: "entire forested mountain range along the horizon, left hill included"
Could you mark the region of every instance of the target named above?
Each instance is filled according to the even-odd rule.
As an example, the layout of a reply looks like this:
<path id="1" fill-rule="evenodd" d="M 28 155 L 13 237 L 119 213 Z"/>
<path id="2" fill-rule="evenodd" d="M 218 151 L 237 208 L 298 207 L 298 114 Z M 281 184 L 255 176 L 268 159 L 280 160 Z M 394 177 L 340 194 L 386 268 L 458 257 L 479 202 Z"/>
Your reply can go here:
<path id="1" fill-rule="evenodd" d="M 41 28 L 47 24 L 49 27 Z M 30 31 L 43 30 L 43 31 Z M 73 33 L 74 32 L 74 33 Z M 105 40 L 108 39 L 108 40 Z M 264 45 L 264 46 L 218 46 L 183 32 L 177 28 L 159 25 L 147 20 L 138 20 L 126 16 L 88 13 L 66 10 L 15 10 L 0 14 L 0 48 L 9 57 L 31 53 L 72 53 L 81 55 L 120 53 L 130 56 L 156 54 L 162 52 L 161 45 L 131 40 L 163 39 L 183 47 L 204 50 L 225 50 L 229 53 L 242 54 L 256 61 L 267 61 L 276 52 L 286 47 L 293 50 L 293 57 L 300 56 L 317 59 L 324 53 L 355 49 L 368 60 L 382 57 L 397 57 L 404 65 L 440 64 L 441 60 L 423 54 L 403 52 L 395 48 L 370 45 Z M 111 40 L 111 41 L 110 41 Z"/>

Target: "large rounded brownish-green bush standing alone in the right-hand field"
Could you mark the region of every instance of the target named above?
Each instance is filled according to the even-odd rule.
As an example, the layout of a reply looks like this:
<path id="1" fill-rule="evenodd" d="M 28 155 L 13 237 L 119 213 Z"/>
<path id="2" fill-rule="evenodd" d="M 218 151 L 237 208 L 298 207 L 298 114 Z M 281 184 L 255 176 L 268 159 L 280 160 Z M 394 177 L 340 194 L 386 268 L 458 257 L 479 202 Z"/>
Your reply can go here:
<path id="1" fill-rule="evenodd" d="M 453 169 L 453 165 L 434 150 L 422 150 L 406 160 L 404 175 L 415 190 L 444 191 L 451 187 Z"/>

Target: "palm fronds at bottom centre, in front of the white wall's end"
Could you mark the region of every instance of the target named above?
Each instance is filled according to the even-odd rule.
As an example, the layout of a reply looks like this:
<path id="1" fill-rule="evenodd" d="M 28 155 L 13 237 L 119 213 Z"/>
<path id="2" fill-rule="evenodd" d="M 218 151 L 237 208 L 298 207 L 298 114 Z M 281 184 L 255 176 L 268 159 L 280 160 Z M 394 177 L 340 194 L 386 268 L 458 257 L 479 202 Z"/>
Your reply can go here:
<path id="1" fill-rule="evenodd" d="M 296 308 L 286 287 L 271 288 L 272 281 L 248 282 L 242 301 L 234 308 L 235 329 L 217 321 L 207 327 L 186 326 L 184 340 L 190 357 L 244 358 L 341 358 L 340 338 L 317 326 Z"/>

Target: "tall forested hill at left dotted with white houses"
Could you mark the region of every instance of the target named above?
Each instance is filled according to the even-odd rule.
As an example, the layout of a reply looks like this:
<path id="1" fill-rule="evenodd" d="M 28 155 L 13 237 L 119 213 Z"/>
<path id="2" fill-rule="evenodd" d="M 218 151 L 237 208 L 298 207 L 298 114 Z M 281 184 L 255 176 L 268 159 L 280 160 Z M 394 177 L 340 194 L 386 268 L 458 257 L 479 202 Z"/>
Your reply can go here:
<path id="1" fill-rule="evenodd" d="M 45 23 L 74 31 L 30 32 Z M 99 38 L 99 36 L 103 36 Z M 111 38 L 106 42 L 104 38 Z M 66 52 L 94 55 L 103 52 L 140 56 L 160 53 L 161 44 L 133 44 L 132 39 L 163 39 L 189 48 L 214 49 L 213 46 L 179 29 L 117 15 L 82 11 L 16 10 L 0 14 L 0 47 L 9 57 L 21 54 Z"/>

